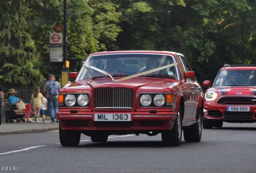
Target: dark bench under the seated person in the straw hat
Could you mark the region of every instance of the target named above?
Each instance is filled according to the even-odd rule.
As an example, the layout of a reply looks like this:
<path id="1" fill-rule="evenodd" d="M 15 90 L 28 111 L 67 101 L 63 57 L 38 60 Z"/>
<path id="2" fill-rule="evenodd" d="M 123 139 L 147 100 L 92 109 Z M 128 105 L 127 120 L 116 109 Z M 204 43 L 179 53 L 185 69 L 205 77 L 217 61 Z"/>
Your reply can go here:
<path id="1" fill-rule="evenodd" d="M 20 121 L 25 122 L 23 117 L 26 114 L 26 110 L 19 110 L 17 105 L 10 105 L 10 101 L 5 99 L 5 115 L 6 123 L 13 123 L 16 120 L 18 123 Z"/>

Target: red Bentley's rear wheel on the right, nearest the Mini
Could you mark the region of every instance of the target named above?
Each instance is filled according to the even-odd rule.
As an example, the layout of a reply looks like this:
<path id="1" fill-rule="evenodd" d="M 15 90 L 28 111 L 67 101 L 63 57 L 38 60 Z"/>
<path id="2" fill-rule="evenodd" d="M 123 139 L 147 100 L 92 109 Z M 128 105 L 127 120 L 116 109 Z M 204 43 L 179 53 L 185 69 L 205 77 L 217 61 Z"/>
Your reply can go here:
<path id="1" fill-rule="evenodd" d="M 186 142 L 199 142 L 202 138 L 202 112 L 199 110 L 198 119 L 195 125 L 183 130 Z"/>

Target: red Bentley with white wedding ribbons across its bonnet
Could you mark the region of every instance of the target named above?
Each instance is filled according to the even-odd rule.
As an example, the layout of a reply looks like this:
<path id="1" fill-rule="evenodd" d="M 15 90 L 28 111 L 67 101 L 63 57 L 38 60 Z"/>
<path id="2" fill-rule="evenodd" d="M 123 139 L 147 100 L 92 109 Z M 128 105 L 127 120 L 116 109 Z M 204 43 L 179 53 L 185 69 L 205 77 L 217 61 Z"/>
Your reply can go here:
<path id="1" fill-rule="evenodd" d="M 168 146 L 202 135 L 203 92 L 186 58 L 175 52 L 115 51 L 90 54 L 75 81 L 59 94 L 60 143 L 76 146 L 109 135 L 161 133 Z"/>

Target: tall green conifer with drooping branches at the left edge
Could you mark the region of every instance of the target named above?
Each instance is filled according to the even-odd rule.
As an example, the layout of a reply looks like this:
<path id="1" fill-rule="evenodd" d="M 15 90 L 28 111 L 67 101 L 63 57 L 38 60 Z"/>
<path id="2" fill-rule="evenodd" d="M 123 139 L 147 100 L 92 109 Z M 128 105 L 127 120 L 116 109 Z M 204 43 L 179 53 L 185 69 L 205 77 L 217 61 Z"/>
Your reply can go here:
<path id="1" fill-rule="evenodd" d="M 0 82 L 33 86 L 42 75 L 33 63 L 39 58 L 27 31 L 25 0 L 0 1 Z"/>

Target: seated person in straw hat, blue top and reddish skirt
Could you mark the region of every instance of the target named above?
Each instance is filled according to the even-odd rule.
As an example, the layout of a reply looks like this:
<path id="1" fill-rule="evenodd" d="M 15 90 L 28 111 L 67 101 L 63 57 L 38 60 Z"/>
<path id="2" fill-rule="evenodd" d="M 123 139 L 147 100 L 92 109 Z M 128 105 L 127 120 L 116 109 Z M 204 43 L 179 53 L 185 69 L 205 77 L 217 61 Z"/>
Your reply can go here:
<path id="1" fill-rule="evenodd" d="M 15 89 L 10 89 L 7 93 L 7 97 L 10 101 L 10 105 L 16 105 L 17 103 L 22 102 L 21 99 L 19 99 L 18 97 L 15 97 L 15 94 L 18 93 L 18 91 L 15 91 Z M 26 114 L 24 116 L 25 119 L 27 119 L 27 123 L 32 123 L 29 118 L 31 117 L 31 115 L 35 116 L 35 114 L 32 111 L 31 108 L 31 104 L 30 103 L 25 103 L 25 107 L 26 107 Z"/>

